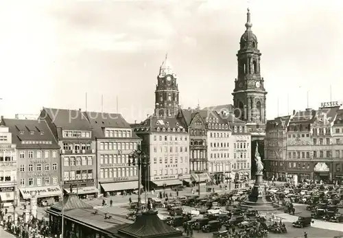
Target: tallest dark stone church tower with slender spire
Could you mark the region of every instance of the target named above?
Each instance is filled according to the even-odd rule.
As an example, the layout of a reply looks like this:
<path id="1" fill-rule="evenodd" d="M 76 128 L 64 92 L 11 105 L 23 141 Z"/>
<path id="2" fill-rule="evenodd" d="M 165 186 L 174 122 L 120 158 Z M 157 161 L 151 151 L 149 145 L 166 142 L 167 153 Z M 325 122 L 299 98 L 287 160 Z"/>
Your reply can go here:
<path id="1" fill-rule="evenodd" d="M 256 123 L 257 128 L 265 128 L 264 80 L 261 78 L 261 53 L 257 37 L 252 33 L 250 11 L 248 9 L 246 31 L 241 36 L 237 53 L 238 76 L 233 91 L 235 115 L 248 123 Z"/>

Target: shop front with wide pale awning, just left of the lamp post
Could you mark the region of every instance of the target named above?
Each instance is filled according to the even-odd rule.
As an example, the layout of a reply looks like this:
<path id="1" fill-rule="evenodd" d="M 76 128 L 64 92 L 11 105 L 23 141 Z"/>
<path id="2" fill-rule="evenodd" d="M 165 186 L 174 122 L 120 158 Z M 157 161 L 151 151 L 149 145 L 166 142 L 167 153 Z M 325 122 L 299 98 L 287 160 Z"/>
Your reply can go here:
<path id="1" fill-rule="evenodd" d="M 112 181 L 100 182 L 101 193 L 105 197 L 115 194 L 130 194 L 138 189 L 138 185 L 138 177 L 113 178 Z"/>

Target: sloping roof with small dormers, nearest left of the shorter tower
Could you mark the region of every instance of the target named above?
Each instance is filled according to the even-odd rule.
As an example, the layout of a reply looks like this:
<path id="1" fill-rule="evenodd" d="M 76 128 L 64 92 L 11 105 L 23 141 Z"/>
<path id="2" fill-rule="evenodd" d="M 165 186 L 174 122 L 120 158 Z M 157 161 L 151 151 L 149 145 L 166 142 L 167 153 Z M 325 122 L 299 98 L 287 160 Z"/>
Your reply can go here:
<path id="1" fill-rule="evenodd" d="M 93 136 L 97 139 L 105 138 L 104 128 L 123 128 L 131 130 L 130 124 L 119 113 L 86 112 L 86 116 L 93 128 Z M 135 133 L 131 133 L 130 138 L 139 139 L 139 136 Z"/>

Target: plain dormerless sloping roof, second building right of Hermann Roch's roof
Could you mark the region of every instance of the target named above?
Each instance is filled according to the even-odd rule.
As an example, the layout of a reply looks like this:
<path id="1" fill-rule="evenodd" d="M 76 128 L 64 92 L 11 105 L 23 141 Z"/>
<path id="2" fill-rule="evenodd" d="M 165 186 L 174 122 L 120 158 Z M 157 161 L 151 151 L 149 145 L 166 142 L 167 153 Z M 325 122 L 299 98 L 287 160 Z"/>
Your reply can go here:
<path id="1" fill-rule="evenodd" d="M 91 130 L 86 112 L 60 108 L 43 108 L 57 128 L 67 130 Z M 44 117 L 40 114 L 40 118 Z M 43 119 L 43 118 L 42 118 Z"/>

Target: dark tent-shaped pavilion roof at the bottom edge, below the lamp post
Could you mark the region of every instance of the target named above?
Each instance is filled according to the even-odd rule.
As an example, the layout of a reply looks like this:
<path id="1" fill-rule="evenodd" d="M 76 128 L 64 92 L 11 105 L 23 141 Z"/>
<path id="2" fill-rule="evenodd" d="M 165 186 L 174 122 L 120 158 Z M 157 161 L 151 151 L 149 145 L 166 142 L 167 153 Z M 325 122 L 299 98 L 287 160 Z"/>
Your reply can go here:
<path id="1" fill-rule="evenodd" d="M 182 231 L 176 230 L 162 222 L 157 216 L 156 211 L 147 211 L 137 215 L 136 221 L 133 224 L 120 228 L 118 234 L 136 238 L 182 237 Z"/>

